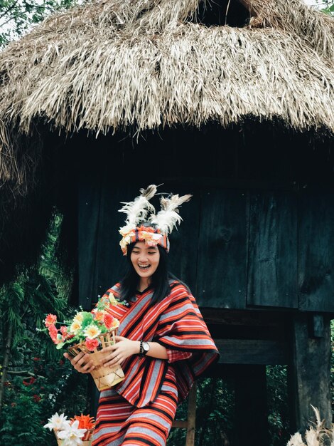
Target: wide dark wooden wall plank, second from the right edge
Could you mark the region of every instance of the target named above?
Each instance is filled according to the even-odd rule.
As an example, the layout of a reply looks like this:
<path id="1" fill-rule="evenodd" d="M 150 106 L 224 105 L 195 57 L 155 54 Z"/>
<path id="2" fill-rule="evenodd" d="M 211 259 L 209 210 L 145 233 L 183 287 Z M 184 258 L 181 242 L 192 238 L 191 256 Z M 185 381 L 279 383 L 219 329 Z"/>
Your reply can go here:
<path id="1" fill-rule="evenodd" d="M 247 304 L 296 308 L 296 195 L 258 192 L 250 201 Z"/>

